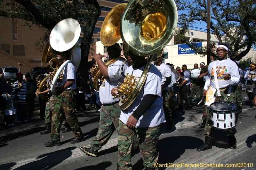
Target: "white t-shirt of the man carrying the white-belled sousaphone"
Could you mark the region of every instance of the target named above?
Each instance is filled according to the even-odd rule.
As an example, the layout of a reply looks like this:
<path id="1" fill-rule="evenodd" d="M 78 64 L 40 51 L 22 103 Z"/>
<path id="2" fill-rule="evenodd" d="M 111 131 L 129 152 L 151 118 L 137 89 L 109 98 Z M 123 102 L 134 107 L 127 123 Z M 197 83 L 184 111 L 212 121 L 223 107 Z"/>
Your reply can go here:
<path id="1" fill-rule="evenodd" d="M 72 63 L 68 63 L 62 70 L 61 74 L 63 74 L 63 81 L 62 83 L 57 83 L 57 86 L 61 87 L 68 82 L 68 79 L 73 79 L 74 83 L 67 89 L 75 90 L 76 89 L 76 70 L 74 65 Z"/>

